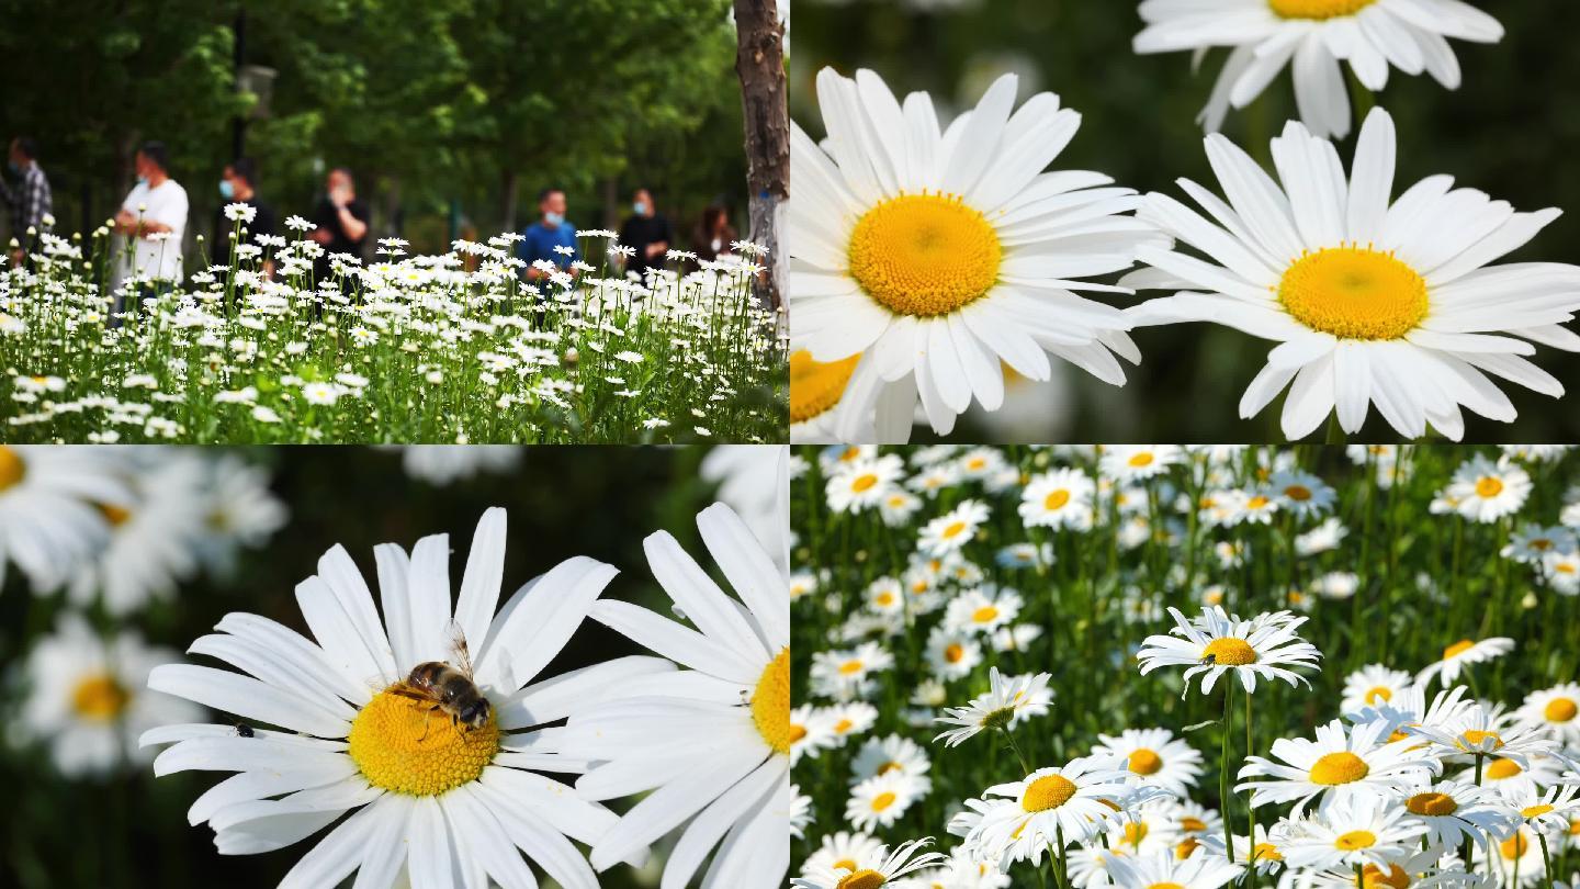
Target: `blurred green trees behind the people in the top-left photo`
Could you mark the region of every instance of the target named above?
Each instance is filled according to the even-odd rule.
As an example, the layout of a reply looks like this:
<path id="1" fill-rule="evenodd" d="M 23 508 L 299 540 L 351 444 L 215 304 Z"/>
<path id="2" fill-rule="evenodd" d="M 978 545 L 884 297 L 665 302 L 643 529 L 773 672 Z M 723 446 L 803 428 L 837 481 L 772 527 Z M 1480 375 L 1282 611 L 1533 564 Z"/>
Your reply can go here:
<path id="1" fill-rule="evenodd" d="M 618 229 L 637 187 L 683 237 L 714 202 L 746 229 L 730 0 L 0 0 L 0 139 L 38 141 L 57 233 L 114 214 L 144 139 L 210 244 L 243 155 L 281 221 L 349 166 L 373 236 L 414 253 L 520 231 L 550 185 L 583 229 Z"/>

